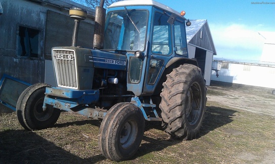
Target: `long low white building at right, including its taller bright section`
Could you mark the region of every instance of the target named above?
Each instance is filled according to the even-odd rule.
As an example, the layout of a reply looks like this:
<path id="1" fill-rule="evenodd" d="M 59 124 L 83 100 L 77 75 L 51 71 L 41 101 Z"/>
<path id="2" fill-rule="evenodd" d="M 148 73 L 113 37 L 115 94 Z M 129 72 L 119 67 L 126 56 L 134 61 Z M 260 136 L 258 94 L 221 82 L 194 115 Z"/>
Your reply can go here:
<path id="1" fill-rule="evenodd" d="M 275 88 L 275 33 L 273 35 L 262 35 L 265 43 L 259 62 L 213 60 L 211 80 Z M 218 77 L 213 70 L 219 70 Z"/>

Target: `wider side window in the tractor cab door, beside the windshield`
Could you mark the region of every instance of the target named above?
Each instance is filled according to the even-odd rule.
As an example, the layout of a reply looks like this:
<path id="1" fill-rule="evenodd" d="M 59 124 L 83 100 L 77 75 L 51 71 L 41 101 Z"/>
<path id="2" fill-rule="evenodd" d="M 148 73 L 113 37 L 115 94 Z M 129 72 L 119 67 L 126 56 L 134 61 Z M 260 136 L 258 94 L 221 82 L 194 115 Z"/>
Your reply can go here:
<path id="1" fill-rule="evenodd" d="M 155 14 L 152 52 L 157 54 L 171 54 L 171 25 L 167 23 L 168 16 L 161 13 Z"/>

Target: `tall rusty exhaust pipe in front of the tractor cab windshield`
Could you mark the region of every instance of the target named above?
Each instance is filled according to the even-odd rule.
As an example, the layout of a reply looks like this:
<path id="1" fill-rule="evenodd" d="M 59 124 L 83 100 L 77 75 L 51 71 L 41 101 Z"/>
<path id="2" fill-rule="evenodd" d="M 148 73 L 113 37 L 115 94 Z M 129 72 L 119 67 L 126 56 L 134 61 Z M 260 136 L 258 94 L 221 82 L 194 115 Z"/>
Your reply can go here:
<path id="1" fill-rule="evenodd" d="M 104 0 L 101 0 L 100 6 L 96 7 L 94 44 L 95 49 L 102 49 L 104 45 L 104 30 L 106 9 L 103 8 Z"/>

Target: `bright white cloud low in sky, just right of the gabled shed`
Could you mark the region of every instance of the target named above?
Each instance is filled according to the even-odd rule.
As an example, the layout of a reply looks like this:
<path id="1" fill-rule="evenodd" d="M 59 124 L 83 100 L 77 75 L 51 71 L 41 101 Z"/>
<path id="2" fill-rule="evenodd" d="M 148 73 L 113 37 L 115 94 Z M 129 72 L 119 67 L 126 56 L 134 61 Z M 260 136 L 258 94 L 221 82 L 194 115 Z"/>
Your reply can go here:
<path id="1" fill-rule="evenodd" d="M 218 56 L 260 58 L 265 39 L 258 33 L 259 26 L 209 24 L 209 27 Z"/>

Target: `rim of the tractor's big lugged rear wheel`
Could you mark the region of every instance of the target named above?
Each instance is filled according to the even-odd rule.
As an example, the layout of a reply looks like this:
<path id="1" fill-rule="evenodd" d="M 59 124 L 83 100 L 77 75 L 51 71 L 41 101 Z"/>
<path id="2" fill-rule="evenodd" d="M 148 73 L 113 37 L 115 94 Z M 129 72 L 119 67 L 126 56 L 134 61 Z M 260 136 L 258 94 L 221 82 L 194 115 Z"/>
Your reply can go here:
<path id="1" fill-rule="evenodd" d="M 197 82 L 194 82 L 188 90 L 186 116 L 190 125 L 194 125 L 200 118 L 202 111 L 202 90 Z"/>

